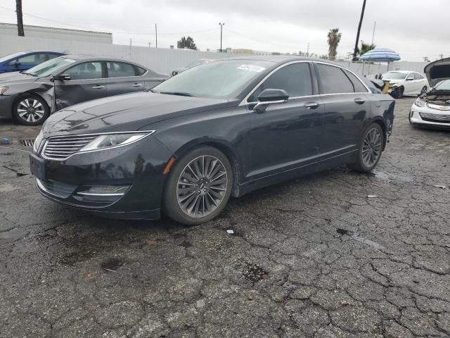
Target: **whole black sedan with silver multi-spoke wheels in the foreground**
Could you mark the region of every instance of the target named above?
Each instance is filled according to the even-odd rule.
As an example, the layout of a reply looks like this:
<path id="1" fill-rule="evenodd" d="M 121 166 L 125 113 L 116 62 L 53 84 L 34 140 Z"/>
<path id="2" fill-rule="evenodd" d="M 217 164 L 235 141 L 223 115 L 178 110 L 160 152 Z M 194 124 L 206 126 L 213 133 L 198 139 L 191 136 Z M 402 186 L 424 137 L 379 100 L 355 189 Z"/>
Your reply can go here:
<path id="1" fill-rule="evenodd" d="M 372 170 L 393 120 L 394 99 L 339 65 L 229 58 L 51 115 L 30 165 L 53 201 L 194 225 L 275 182 L 342 164 Z"/>

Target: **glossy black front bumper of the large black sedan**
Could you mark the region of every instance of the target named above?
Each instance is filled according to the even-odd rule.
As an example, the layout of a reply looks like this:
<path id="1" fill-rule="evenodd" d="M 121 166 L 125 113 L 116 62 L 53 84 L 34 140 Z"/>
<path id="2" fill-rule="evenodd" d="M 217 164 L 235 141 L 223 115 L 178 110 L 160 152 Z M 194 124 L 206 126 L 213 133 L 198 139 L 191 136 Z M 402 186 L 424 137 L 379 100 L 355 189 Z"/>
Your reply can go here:
<path id="1" fill-rule="evenodd" d="M 165 175 L 172 156 L 154 137 L 92 153 L 76 153 L 65 161 L 44 161 L 37 189 L 61 204 L 109 218 L 157 219 Z M 96 187 L 128 187 L 123 194 L 86 194 Z"/>

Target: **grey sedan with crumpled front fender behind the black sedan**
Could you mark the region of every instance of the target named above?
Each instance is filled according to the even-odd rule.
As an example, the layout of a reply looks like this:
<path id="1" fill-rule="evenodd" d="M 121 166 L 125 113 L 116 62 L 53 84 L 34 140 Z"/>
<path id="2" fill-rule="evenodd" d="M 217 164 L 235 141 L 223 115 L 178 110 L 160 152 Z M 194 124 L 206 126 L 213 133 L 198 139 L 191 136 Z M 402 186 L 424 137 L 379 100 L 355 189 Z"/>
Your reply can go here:
<path id="1" fill-rule="evenodd" d="M 0 117 L 40 125 L 54 111 L 72 104 L 142 92 L 165 79 L 122 59 L 60 56 L 24 72 L 0 74 Z"/>

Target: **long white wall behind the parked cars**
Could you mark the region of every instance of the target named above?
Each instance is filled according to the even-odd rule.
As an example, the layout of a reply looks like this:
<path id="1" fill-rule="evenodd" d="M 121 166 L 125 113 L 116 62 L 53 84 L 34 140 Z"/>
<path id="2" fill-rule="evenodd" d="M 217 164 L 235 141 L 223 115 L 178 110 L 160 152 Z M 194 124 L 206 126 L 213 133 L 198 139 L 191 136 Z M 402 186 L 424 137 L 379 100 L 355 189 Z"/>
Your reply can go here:
<path id="1" fill-rule="evenodd" d="M 200 58 L 227 58 L 237 54 L 214 53 L 210 51 L 191 51 L 188 49 L 162 49 L 142 46 L 124 46 L 120 44 L 94 44 L 59 39 L 41 39 L 36 37 L 15 37 L 0 35 L 0 56 L 16 51 L 60 51 L 70 54 L 95 54 L 126 58 L 159 73 L 169 74 L 174 68 L 180 68 L 197 61 Z M 353 70 L 359 75 L 374 75 L 385 73 L 387 63 L 380 65 L 361 62 L 339 61 L 341 65 Z M 393 62 L 390 70 L 414 70 L 423 73 L 424 62 Z"/>

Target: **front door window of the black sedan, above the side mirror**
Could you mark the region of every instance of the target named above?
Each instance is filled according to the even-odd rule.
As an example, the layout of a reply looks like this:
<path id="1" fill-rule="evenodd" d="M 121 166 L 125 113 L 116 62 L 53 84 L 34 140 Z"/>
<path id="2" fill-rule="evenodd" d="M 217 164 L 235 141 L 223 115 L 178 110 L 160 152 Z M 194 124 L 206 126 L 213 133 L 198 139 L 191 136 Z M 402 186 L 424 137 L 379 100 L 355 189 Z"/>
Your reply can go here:
<path id="1" fill-rule="evenodd" d="M 293 63 L 277 70 L 253 92 L 248 102 L 258 101 L 257 96 L 264 89 L 284 89 L 290 97 L 312 95 L 309 63 Z"/>

